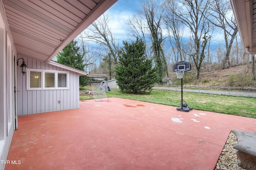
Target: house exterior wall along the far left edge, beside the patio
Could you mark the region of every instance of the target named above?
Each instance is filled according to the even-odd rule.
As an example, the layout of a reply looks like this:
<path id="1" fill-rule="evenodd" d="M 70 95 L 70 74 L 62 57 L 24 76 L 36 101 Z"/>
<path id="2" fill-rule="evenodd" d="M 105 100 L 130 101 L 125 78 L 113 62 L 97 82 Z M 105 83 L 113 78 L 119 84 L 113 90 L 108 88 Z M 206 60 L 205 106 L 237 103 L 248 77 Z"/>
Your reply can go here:
<path id="1" fill-rule="evenodd" d="M 0 0 L 0 170 L 4 169 L 4 161 L 15 129 L 13 68 L 16 49 L 11 37 Z"/>

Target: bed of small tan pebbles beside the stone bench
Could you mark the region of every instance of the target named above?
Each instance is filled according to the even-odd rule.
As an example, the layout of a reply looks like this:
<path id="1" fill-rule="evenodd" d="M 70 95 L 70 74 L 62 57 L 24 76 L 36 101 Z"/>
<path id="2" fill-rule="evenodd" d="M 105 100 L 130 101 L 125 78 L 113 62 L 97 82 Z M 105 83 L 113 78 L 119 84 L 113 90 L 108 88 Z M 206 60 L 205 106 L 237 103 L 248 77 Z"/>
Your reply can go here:
<path id="1" fill-rule="evenodd" d="M 231 132 L 214 170 L 244 170 L 237 165 L 238 158 L 236 156 L 236 150 L 233 148 L 235 144 L 236 135 Z"/>

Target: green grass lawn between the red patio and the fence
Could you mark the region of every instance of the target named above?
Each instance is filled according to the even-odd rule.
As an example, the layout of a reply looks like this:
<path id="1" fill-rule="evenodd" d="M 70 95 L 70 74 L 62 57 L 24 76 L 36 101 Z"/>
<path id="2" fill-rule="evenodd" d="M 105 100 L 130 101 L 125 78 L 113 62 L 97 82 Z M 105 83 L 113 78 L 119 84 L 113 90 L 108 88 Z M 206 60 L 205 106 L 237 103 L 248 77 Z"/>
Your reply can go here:
<path id="1" fill-rule="evenodd" d="M 180 106 L 181 100 L 181 92 L 170 90 L 153 90 L 149 94 L 127 94 L 119 89 L 111 89 L 106 94 L 108 98 L 124 98 L 175 107 Z M 90 96 L 80 96 L 80 100 L 88 99 Z M 256 98 L 183 92 L 183 100 L 197 110 L 256 118 Z"/>

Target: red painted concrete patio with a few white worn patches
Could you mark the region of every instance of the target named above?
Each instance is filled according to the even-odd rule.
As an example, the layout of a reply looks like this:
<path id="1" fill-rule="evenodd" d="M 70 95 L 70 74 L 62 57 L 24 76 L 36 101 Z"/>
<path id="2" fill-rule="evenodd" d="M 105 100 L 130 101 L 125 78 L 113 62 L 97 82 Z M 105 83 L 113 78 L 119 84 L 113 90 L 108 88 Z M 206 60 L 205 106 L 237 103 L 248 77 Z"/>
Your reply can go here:
<path id="1" fill-rule="evenodd" d="M 213 170 L 231 130 L 256 132 L 252 118 L 109 100 L 18 117 L 5 170 Z"/>

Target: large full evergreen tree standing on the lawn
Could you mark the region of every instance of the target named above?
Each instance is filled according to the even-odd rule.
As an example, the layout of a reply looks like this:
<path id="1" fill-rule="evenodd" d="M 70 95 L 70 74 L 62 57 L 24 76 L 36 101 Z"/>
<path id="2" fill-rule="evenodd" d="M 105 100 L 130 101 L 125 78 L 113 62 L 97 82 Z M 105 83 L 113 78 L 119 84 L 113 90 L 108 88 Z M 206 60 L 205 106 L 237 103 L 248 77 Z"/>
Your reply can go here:
<path id="1" fill-rule="evenodd" d="M 119 63 L 116 66 L 116 82 L 123 92 L 141 93 L 151 91 L 157 82 L 156 69 L 152 60 L 145 55 L 145 45 L 141 39 L 128 43 L 123 41 Z"/>

